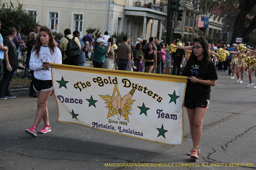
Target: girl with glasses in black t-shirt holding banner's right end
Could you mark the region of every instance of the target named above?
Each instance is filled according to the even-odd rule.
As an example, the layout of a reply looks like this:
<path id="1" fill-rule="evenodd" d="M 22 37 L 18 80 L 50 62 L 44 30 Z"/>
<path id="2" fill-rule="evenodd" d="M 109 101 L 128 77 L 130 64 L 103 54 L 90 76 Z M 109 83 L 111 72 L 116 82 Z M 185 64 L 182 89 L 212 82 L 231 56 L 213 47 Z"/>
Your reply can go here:
<path id="1" fill-rule="evenodd" d="M 210 59 L 208 42 L 205 38 L 195 38 L 192 47 L 182 48 L 192 48 L 192 53 L 181 73 L 181 76 L 187 76 L 188 79 L 182 107 L 187 108 L 189 129 L 193 141 L 193 149 L 187 155 L 190 155 L 191 159 L 198 159 L 202 123 L 209 107 L 211 86 L 216 84 L 218 76 L 215 64 Z"/>

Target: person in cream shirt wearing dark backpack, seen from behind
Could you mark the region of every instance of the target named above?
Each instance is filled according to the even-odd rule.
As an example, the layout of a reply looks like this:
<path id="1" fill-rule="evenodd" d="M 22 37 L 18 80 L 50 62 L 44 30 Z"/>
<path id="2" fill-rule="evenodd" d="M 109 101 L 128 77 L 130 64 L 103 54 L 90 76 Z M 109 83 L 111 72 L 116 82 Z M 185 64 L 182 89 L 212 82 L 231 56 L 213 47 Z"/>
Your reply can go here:
<path id="1" fill-rule="evenodd" d="M 79 39 L 71 35 L 69 28 L 64 30 L 64 35 L 65 37 L 60 40 L 60 51 L 63 54 L 62 64 L 78 66 L 78 57 L 81 50 Z"/>

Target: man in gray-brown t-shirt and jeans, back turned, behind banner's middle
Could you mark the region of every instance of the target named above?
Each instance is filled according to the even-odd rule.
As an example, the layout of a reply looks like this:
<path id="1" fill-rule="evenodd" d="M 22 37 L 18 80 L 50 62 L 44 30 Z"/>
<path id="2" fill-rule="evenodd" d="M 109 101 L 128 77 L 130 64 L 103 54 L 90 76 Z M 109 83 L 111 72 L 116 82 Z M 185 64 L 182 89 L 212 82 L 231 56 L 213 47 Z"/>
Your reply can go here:
<path id="1" fill-rule="evenodd" d="M 127 35 L 123 37 L 123 43 L 119 44 L 117 47 L 117 66 L 118 70 L 126 70 L 127 66 L 130 68 L 130 62 L 131 62 L 131 47 L 127 44 L 129 41 L 129 38 Z"/>

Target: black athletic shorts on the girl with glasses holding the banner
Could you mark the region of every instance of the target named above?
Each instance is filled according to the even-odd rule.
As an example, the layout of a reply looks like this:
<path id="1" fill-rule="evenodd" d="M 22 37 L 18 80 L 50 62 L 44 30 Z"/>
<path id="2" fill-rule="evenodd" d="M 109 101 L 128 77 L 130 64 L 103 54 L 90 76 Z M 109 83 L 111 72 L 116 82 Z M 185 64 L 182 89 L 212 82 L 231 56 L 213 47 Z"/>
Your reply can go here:
<path id="1" fill-rule="evenodd" d="M 209 108 L 210 99 L 197 99 L 197 98 L 190 98 L 185 96 L 185 104 L 184 107 L 187 109 L 196 109 L 196 108 Z"/>

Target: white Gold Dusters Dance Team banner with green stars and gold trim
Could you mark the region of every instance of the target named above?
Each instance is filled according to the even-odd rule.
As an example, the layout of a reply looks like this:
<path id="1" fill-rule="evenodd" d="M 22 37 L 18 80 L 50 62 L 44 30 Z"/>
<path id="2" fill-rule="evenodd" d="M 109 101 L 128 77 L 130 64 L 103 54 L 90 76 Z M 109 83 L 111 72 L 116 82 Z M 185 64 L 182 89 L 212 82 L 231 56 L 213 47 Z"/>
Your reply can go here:
<path id="1" fill-rule="evenodd" d="M 161 144 L 182 143 L 186 77 L 50 65 L 57 121 Z"/>

